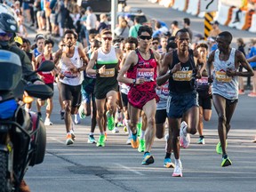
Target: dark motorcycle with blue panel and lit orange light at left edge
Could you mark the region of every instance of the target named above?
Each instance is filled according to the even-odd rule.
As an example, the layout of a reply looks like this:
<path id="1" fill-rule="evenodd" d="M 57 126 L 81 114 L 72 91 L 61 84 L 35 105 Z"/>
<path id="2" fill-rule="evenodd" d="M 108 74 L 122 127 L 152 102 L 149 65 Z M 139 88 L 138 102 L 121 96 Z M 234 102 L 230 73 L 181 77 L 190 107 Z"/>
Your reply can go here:
<path id="1" fill-rule="evenodd" d="M 52 71 L 54 63 L 46 60 L 29 74 Z M 28 166 L 44 161 L 46 132 L 42 119 L 26 112 L 19 104 L 32 97 L 46 100 L 53 92 L 45 84 L 29 84 L 22 79 L 20 58 L 13 52 L 0 51 L 0 192 L 19 191 Z"/>

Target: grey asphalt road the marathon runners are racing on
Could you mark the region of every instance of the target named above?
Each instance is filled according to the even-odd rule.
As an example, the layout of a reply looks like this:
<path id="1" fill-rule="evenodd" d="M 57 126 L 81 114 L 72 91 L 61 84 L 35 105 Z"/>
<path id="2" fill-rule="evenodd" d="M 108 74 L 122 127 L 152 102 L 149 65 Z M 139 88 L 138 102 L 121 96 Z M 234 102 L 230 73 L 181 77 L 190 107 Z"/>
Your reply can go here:
<path id="1" fill-rule="evenodd" d="M 143 7 L 143 12 L 154 14 L 152 16 L 160 20 L 171 17 L 173 20 L 181 20 L 187 17 L 186 13 L 172 10 L 168 11 L 172 16 L 167 17 L 169 13 L 164 12 L 164 7 L 156 7 L 152 11 L 153 7 L 151 8 L 151 4 L 146 0 L 128 3 Z M 193 18 L 194 30 L 200 29 L 201 21 L 202 19 Z M 242 34 L 241 36 L 252 36 L 251 33 L 234 30 L 234 36 L 236 33 Z M 29 38 L 34 37 L 33 33 L 29 35 Z M 228 156 L 233 162 L 232 166 L 220 167 L 221 156 L 215 152 L 218 133 L 217 116 L 213 108 L 211 121 L 204 124 L 206 144 L 196 144 L 198 135 L 192 136 L 190 147 L 181 149 L 180 153 L 184 167 L 183 178 L 172 178 L 173 170 L 163 166 L 164 139 L 156 139 L 154 142 L 151 152 L 155 156 L 155 164 L 145 166 L 141 164 L 143 155 L 131 146 L 125 145 L 127 135 L 123 129 L 120 129 L 119 133 L 108 132 L 105 148 L 88 144 L 90 118 L 87 117 L 82 124 L 76 125 L 76 143 L 66 146 L 65 125 L 64 121 L 60 120 L 58 90 L 55 86 L 53 125 L 47 126 L 44 163 L 30 167 L 25 180 L 33 192 L 255 192 L 256 143 L 252 143 L 256 134 L 255 107 L 255 98 L 240 96 L 228 135 Z M 35 104 L 33 108 L 35 109 Z M 42 111 L 44 118 L 45 108 Z M 99 138 L 98 128 L 95 137 Z"/>

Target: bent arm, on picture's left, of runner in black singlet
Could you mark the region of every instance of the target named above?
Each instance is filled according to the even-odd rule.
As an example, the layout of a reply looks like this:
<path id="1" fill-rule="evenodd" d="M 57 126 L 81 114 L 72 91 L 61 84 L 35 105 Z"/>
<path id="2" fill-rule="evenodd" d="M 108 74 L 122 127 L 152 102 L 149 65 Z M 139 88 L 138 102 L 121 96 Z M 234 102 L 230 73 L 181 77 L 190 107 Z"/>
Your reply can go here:
<path id="1" fill-rule="evenodd" d="M 172 70 L 170 70 L 169 73 L 167 73 L 171 63 L 172 52 L 168 52 L 165 54 L 164 60 L 160 64 L 159 76 L 156 79 L 157 85 L 161 86 L 172 76 Z"/>

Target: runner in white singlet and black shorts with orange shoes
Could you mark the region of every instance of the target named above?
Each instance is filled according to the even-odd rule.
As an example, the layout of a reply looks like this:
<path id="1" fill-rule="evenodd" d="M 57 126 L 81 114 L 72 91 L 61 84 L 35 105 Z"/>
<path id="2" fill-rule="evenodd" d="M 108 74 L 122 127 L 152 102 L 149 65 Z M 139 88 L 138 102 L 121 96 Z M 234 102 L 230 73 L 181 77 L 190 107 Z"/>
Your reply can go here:
<path id="1" fill-rule="evenodd" d="M 75 46 L 76 38 L 73 30 L 65 31 L 64 43 L 66 48 L 56 52 L 54 63 L 56 64 L 60 59 L 60 94 L 65 108 L 66 144 L 70 145 L 75 140 L 71 114 L 77 113 L 81 103 L 81 84 L 84 80 L 83 71 L 86 68 L 87 58 L 83 50 Z"/>

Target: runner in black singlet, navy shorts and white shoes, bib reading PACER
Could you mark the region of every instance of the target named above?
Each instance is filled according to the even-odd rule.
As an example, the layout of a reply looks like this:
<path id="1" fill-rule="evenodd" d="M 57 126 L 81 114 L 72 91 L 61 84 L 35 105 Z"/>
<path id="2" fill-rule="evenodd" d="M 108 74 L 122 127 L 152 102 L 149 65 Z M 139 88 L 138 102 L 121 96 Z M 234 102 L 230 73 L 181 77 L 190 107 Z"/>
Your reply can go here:
<path id="1" fill-rule="evenodd" d="M 175 156 L 175 168 L 172 176 L 182 177 L 180 146 L 188 148 L 189 133 L 196 133 L 199 108 L 195 86 L 196 64 L 193 51 L 188 48 L 188 31 L 180 29 L 176 33 L 175 42 L 178 48 L 164 56 L 157 84 L 162 85 L 169 79 L 170 95 L 167 102 L 167 116 L 172 129 L 172 149 Z M 202 63 L 199 58 L 197 60 L 198 63 Z M 168 69 L 169 75 L 166 76 Z M 199 75 L 202 74 L 202 70 L 198 72 Z M 180 124 L 181 118 L 183 121 Z"/>

